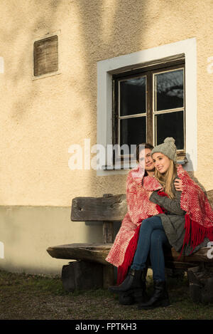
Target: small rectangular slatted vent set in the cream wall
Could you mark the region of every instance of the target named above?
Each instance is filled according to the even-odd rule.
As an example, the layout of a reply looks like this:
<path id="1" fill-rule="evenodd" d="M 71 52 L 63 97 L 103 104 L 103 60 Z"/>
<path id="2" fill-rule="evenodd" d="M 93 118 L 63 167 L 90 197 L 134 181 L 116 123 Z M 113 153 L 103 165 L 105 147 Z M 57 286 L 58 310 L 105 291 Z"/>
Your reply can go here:
<path id="1" fill-rule="evenodd" d="M 58 36 L 35 41 L 33 44 L 34 76 L 58 71 Z"/>

